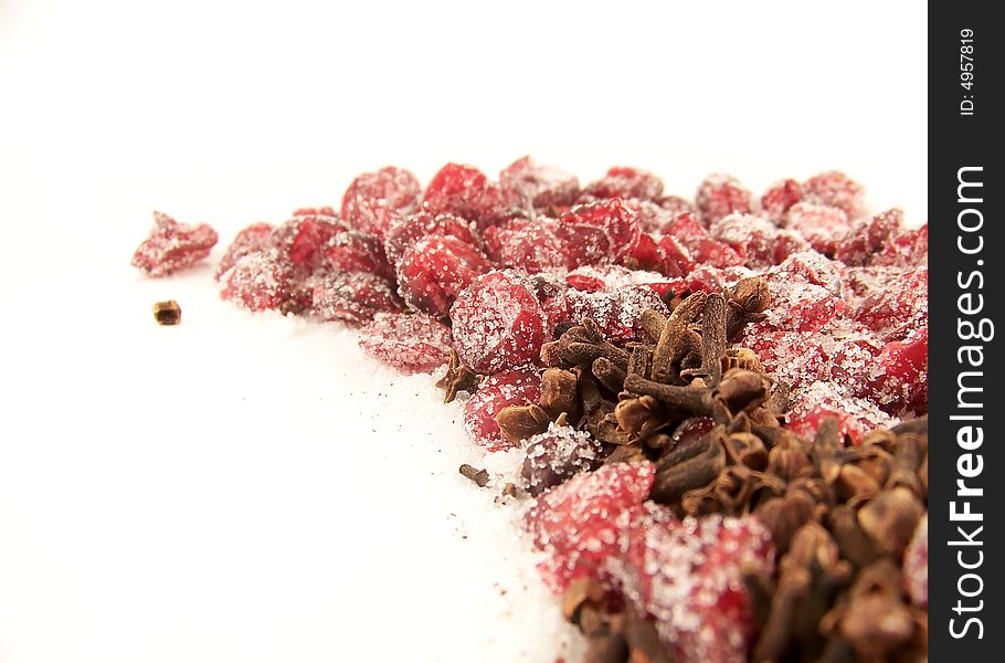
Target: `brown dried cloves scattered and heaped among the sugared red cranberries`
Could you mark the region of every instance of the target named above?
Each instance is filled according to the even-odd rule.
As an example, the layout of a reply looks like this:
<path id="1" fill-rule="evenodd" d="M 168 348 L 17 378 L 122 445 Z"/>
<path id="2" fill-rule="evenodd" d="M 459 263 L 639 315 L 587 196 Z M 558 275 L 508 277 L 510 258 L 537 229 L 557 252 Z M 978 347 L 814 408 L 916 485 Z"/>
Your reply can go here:
<path id="1" fill-rule="evenodd" d="M 679 516 L 759 517 L 779 562 L 771 577 L 747 578 L 760 624 L 751 660 L 922 660 L 927 617 L 906 599 L 900 569 L 927 513 L 927 421 L 874 431 L 859 446 L 834 419 L 812 441 L 784 428 L 785 387 L 754 352 L 730 347 L 770 302 L 760 277 L 670 296 L 669 315 L 644 312 L 642 338 L 624 347 L 584 319 L 542 347 L 538 401 L 497 422 L 518 442 L 558 420 L 602 442 L 605 463 L 653 461 L 649 497 Z M 473 379 L 455 360 L 442 386 Z M 646 650 L 655 630 L 643 617 L 601 619 L 595 589 L 569 592 L 567 618 L 590 636 L 590 661 L 668 660 Z"/>

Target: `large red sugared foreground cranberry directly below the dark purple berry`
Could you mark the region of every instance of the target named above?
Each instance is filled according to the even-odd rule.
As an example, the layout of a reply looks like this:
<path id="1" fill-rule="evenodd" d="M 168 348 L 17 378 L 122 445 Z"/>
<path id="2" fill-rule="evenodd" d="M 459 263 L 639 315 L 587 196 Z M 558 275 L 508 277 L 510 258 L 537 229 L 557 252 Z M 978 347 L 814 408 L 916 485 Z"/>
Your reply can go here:
<path id="1" fill-rule="evenodd" d="M 525 523 L 535 546 L 548 554 L 538 569 L 552 591 L 576 578 L 596 578 L 621 555 L 625 528 L 654 476 L 649 462 L 614 463 L 576 474 L 531 503 Z"/>

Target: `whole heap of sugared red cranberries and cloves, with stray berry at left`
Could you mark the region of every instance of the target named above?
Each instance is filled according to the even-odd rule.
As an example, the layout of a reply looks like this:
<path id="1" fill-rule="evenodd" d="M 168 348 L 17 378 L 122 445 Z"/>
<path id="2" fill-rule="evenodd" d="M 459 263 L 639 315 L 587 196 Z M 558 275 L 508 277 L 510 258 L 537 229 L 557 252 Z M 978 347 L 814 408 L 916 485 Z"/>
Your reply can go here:
<path id="1" fill-rule="evenodd" d="M 134 264 L 205 257 L 156 215 Z M 497 180 L 387 167 L 341 208 L 241 231 L 224 299 L 448 365 L 464 427 L 525 454 L 544 581 L 593 661 L 925 654 L 928 233 L 842 172 L 694 201 L 522 158 Z M 484 482 L 482 482 L 484 483 Z M 881 618 L 881 619 L 880 619 Z"/>

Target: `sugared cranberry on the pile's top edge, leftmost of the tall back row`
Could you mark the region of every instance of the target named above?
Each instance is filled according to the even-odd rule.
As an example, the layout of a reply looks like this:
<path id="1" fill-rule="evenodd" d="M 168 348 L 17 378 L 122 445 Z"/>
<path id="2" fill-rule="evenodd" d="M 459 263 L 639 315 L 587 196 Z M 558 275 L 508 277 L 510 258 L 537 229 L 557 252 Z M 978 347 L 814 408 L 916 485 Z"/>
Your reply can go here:
<path id="1" fill-rule="evenodd" d="M 350 228 L 382 235 L 378 232 L 382 222 L 374 223 L 374 209 L 408 212 L 419 203 L 421 192 L 419 180 L 403 168 L 385 166 L 375 172 L 363 172 L 346 189 L 341 217 Z"/>

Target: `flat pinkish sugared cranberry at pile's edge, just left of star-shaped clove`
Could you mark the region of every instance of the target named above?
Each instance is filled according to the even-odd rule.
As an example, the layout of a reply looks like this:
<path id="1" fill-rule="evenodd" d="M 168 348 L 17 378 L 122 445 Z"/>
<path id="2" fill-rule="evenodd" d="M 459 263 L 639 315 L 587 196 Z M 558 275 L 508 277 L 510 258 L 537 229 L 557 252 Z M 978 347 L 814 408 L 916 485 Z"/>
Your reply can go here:
<path id="1" fill-rule="evenodd" d="M 359 347 L 403 373 L 429 372 L 449 361 L 451 329 L 422 314 L 380 313 L 360 329 Z"/>

